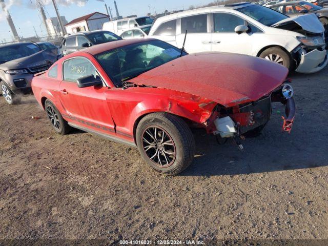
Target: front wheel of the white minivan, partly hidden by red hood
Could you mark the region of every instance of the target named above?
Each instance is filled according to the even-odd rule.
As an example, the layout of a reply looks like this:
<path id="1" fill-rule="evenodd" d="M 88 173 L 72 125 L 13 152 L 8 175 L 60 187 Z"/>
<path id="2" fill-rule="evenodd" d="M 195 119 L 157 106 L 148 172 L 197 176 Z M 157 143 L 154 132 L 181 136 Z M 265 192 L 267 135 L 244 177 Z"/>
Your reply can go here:
<path id="1" fill-rule="evenodd" d="M 287 52 L 285 52 L 279 47 L 272 47 L 264 50 L 260 54 L 260 57 L 267 60 L 271 60 L 274 63 L 278 63 L 284 66 L 285 68 L 291 69 L 292 58 Z"/>

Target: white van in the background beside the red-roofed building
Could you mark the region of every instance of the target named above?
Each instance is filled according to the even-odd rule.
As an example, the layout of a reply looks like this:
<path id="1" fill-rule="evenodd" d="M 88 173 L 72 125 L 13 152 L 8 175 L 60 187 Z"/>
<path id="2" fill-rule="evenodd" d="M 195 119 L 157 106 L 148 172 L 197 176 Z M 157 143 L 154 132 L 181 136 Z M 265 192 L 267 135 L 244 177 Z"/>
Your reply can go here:
<path id="1" fill-rule="evenodd" d="M 122 32 L 128 29 L 135 28 L 135 27 L 143 27 L 152 24 L 153 24 L 153 19 L 149 16 L 133 17 L 133 18 L 113 20 L 112 22 L 106 22 L 103 25 L 103 30 L 113 32 L 116 35 L 121 35 Z"/>

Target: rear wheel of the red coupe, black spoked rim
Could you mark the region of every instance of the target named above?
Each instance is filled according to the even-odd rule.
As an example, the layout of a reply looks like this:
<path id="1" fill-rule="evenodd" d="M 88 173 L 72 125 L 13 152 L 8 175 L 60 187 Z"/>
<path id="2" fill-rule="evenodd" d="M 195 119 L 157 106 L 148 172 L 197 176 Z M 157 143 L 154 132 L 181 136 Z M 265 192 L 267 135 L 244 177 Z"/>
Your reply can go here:
<path id="1" fill-rule="evenodd" d="M 57 108 L 50 100 L 45 101 L 45 111 L 50 120 L 52 128 L 59 134 L 65 135 L 71 131 L 67 121 L 61 116 Z"/>

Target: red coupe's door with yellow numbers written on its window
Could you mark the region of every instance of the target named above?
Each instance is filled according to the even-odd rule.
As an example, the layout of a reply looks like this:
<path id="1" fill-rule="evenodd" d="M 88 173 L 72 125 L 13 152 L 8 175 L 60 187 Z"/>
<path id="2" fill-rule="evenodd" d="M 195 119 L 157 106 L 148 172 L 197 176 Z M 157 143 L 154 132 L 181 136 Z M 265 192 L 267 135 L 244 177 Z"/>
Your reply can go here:
<path id="1" fill-rule="evenodd" d="M 105 95 L 109 88 L 105 84 L 85 88 L 77 86 L 77 79 L 88 75 L 99 75 L 88 58 L 74 57 L 64 61 L 59 98 L 65 116 L 70 122 L 81 127 L 115 134 L 114 122 Z"/>

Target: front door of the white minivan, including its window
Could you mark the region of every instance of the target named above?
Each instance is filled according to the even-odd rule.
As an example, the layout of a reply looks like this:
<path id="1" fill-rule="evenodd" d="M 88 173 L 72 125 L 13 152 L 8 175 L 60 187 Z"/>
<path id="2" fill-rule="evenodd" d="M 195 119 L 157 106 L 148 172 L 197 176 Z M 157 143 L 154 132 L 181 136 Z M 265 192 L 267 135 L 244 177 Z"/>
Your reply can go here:
<path id="1" fill-rule="evenodd" d="M 255 26 L 249 32 L 237 34 L 235 27 L 247 26 L 247 22 L 235 14 L 223 12 L 213 14 L 212 25 L 212 51 L 253 55 L 252 46 L 259 34 Z"/>

